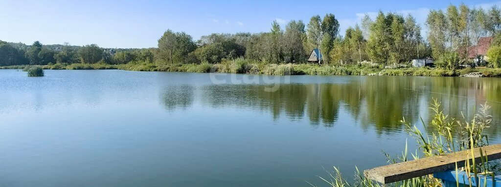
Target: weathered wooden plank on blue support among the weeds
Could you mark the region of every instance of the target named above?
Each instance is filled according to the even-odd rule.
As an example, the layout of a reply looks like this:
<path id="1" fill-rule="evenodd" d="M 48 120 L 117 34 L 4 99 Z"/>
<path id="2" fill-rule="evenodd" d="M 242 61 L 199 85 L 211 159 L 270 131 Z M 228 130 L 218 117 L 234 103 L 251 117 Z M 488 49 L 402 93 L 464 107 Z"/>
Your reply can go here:
<path id="1" fill-rule="evenodd" d="M 480 149 L 483 152 L 483 156 L 487 156 L 488 160 L 501 158 L 501 144 L 488 145 L 473 150 L 476 162 L 481 160 Z M 369 179 L 386 184 L 454 169 L 456 168 L 455 162 L 457 162 L 458 167 L 462 167 L 467 157 L 471 160 L 470 154 L 471 150 L 463 150 L 445 155 L 400 162 L 364 170 L 364 175 Z"/>

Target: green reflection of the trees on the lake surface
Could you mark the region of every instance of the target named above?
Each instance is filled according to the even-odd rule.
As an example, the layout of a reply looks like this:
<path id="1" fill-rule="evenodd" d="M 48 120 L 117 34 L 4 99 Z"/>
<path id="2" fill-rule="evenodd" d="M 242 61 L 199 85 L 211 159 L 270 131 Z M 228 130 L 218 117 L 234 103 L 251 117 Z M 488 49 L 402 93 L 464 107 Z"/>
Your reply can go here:
<path id="1" fill-rule="evenodd" d="M 432 98 L 442 101 L 451 117 L 471 117 L 480 104 L 501 111 L 500 86 L 494 78 L 358 77 L 346 82 L 285 83 L 277 91 L 266 84 L 206 84 L 169 86 L 162 101 L 167 109 L 186 108 L 194 99 L 206 107 L 235 107 L 270 112 L 274 118 L 307 119 L 312 126 L 331 127 L 349 117 L 363 129 L 400 132 L 402 117 L 412 123 L 430 120 Z M 196 90 L 195 90 L 196 89 Z M 193 93 L 197 92 L 198 95 Z M 463 114 L 461 114 L 463 112 Z M 494 122 L 499 116 L 494 116 Z M 492 133 L 498 131 L 493 127 Z"/>

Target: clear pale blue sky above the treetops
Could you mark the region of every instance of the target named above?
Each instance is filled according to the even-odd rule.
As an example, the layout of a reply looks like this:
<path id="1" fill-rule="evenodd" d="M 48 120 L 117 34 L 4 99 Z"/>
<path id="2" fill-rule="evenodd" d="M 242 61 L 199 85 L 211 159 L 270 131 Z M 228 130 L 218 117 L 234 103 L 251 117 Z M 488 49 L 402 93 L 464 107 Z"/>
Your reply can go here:
<path id="1" fill-rule="evenodd" d="M 326 13 L 336 15 L 343 32 L 364 13 L 411 13 L 422 23 L 429 9 L 461 2 L 501 5 L 493 0 L 0 0 L 0 40 L 154 47 L 166 29 L 198 39 L 214 32 L 268 31 L 275 19 L 285 26 Z"/>

